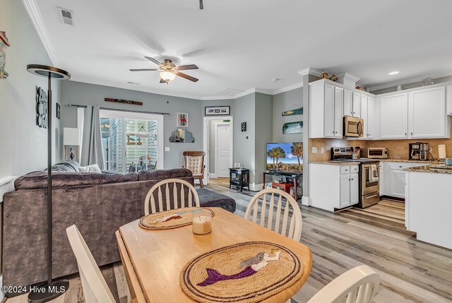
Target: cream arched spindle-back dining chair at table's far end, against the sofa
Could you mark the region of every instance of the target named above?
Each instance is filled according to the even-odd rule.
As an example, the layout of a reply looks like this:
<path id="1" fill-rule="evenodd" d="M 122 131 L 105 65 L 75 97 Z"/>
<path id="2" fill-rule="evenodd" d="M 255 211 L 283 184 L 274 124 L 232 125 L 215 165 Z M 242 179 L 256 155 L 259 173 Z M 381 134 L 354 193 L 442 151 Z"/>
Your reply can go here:
<path id="1" fill-rule="evenodd" d="M 169 189 L 169 185 L 173 184 L 172 190 Z M 180 184 L 180 195 L 179 191 L 177 190 L 177 184 Z M 186 188 L 186 190 L 184 189 Z M 166 209 L 177 209 L 177 208 L 184 208 L 184 207 L 192 207 L 193 206 L 193 200 L 195 202 L 196 207 L 199 206 L 199 197 L 198 192 L 194 188 L 193 185 L 191 185 L 189 182 L 186 182 L 182 179 L 166 179 L 163 181 L 158 182 L 155 184 L 151 189 L 148 191 L 148 195 L 146 196 L 144 200 L 144 214 L 149 215 L 149 204 L 150 204 L 150 211 L 151 213 L 156 212 L 155 208 L 155 197 L 154 193 L 157 191 L 157 201 L 158 201 L 158 209 L 159 211 L 163 210 L 163 195 L 162 195 L 162 188 L 163 191 L 165 191 L 165 203 L 166 203 Z M 185 206 L 185 195 L 188 196 L 188 204 Z M 173 200 L 173 205 L 171 205 L 171 197 Z M 180 205 L 179 205 L 179 197 L 180 197 Z"/>

